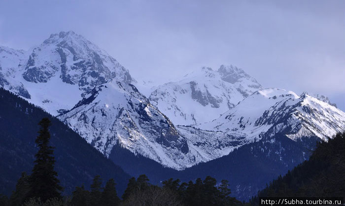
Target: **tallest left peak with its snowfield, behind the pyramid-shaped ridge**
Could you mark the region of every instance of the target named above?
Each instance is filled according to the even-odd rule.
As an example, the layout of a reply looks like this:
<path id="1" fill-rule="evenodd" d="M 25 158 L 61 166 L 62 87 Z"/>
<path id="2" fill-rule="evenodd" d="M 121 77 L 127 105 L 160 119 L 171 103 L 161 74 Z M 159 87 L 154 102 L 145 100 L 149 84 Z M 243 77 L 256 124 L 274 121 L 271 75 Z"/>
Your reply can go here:
<path id="1" fill-rule="evenodd" d="M 53 115 L 111 79 L 135 80 L 104 50 L 74 32 L 51 34 L 32 51 L 0 47 L 0 85 Z"/>

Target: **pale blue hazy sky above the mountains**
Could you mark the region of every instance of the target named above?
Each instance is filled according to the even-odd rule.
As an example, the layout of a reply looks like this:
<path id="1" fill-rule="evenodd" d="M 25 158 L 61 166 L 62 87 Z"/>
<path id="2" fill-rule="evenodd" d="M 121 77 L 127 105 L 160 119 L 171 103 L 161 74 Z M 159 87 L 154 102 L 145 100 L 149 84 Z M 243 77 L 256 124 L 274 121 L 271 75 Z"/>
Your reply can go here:
<path id="1" fill-rule="evenodd" d="M 328 96 L 345 110 L 344 0 L 0 0 L 0 45 L 72 30 L 137 79 L 241 67 L 264 87 Z"/>

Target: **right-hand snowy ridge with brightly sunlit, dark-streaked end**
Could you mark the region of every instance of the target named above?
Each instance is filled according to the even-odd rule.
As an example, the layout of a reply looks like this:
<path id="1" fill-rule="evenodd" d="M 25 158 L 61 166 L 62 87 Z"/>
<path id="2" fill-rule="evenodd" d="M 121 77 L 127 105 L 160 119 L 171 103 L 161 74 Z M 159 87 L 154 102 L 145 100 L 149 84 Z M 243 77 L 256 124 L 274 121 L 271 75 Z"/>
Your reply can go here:
<path id="1" fill-rule="evenodd" d="M 327 139 L 344 129 L 345 113 L 307 94 L 281 89 L 259 90 L 222 114 L 196 126 L 177 126 L 204 161 L 217 159 L 262 137 L 282 134 Z"/>

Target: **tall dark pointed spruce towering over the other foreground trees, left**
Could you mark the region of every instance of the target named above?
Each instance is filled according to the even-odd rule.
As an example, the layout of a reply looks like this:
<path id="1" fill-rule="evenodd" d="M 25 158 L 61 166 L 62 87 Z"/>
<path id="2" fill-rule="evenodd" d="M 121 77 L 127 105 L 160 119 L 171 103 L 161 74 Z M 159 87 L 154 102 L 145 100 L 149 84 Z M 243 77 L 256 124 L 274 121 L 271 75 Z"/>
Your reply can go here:
<path id="1" fill-rule="evenodd" d="M 43 118 L 38 125 L 40 130 L 35 140 L 38 152 L 35 154 L 35 166 L 30 176 L 29 198 L 40 198 L 45 202 L 51 198 L 61 199 L 63 188 L 59 185 L 58 173 L 54 171 L 54 147 L 49 146 L 50 134 L 48 127 L 51 125 L 48 118 Z"/>

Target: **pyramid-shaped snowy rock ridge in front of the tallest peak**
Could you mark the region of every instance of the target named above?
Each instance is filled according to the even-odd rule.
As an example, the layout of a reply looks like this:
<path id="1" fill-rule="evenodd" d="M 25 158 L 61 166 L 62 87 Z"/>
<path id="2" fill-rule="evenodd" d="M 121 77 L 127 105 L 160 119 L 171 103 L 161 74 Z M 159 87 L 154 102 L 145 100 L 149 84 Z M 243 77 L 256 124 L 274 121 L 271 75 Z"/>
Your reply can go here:
<path id="1" fill-rule="evenodd" d="M 106 156 L 119 143 L 176 169 L 195 159 L 187 140 L 132 84 L 112 80 L 99 85 L 59 119 Z"/>

